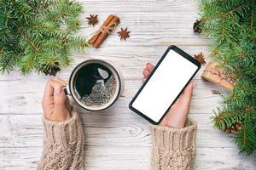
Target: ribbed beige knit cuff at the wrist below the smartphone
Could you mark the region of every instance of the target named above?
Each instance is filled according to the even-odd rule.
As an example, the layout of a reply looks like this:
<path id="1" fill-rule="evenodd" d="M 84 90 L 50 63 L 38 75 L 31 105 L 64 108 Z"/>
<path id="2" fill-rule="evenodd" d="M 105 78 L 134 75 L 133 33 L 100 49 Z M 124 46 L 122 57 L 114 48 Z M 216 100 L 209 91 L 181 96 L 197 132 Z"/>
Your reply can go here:
<path id="1" fill-rule="evenodd" d="M 195 147 L 196 122 L 188 118 L 183 128 L 152 126 L 154 146 L 165 150 L 187 150 Z"/>

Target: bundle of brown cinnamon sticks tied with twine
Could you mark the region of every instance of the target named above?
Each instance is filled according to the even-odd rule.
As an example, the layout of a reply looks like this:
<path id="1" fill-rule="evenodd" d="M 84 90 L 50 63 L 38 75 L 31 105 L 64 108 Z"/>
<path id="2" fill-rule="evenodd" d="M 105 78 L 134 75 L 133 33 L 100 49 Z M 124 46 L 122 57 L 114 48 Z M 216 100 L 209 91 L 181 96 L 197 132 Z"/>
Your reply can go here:
<path id="1" fill-rule="evenodd" d="M 90 44 L 99 48 L 103 40 L 110 34 L 111 31 L 119 24 L 119 17 L 113 14 L 110 14 L 100 27 L 98 31 L 90 38 Z"/>

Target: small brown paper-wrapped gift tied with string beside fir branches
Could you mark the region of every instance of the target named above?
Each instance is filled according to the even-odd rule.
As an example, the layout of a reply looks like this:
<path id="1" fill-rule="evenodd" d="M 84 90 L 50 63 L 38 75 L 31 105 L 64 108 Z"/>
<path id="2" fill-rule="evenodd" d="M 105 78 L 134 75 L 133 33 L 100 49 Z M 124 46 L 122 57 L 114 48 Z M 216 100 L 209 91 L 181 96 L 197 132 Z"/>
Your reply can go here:
<path id="1" fill-rule="evenodd" d="M 219 87 L 232 90 L 235 85 L 233 77 L 226 75 L 224 70 L 218 67 L 218 62 L 209 62 L 201 77 L 207 81 L 217 84 Z"/>

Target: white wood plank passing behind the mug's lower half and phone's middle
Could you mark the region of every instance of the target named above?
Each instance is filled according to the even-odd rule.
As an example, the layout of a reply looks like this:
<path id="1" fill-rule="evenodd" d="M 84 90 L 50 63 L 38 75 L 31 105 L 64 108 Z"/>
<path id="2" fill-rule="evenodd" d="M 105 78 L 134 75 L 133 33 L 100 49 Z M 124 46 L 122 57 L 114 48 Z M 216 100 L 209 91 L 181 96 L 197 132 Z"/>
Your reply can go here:
<path id="1" fill-rule="evenodd" d="M 1 82 L 0 114 L 41 114 L 41 100 L 47 79 L 47 77 L 42 77 L 38 80 L 27 81 L 26 77 L 20 77 L 19 81 Z M 212 114 L 212 109 L 218 106 L 219 96 L 212 95 L 213 86 L 210 82 L 201 80 L 195 80 L 195 82 L 197 85 L 190 112 Z M 113 112 L 129 112 L 128 104 L 141 85 L 141 80 L 125 80 L 124 93 L 113 105 L 115 108 Z"/>

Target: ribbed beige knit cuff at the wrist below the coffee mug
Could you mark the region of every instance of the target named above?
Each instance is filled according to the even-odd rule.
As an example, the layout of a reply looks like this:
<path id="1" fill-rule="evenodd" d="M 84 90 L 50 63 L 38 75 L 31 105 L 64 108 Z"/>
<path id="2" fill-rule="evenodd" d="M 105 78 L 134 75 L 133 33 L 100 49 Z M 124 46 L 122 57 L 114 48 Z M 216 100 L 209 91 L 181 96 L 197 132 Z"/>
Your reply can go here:
<path id="1" fill-rule="evenodd" d="M 83 127 L 78 112 L 73 109 L 71 118 L 65 122 L 52 122 L 44 116 L 45 143 L 67 148 L 84 139 Z"/>

